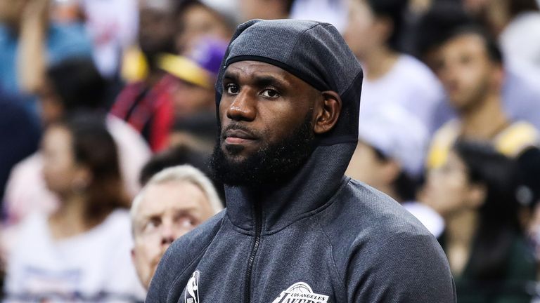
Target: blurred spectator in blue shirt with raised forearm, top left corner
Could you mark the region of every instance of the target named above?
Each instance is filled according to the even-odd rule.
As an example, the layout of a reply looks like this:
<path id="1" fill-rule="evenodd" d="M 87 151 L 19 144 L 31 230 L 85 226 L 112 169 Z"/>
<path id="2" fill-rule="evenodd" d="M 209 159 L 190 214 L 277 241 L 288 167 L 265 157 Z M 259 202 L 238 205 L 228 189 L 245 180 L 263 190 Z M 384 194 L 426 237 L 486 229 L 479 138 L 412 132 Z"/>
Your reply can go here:
<path id="1" fill-rule="evenodd" d="M 78 24 L 49 21 L 48 0 L 0 0 L 0 86 L 11 95 L 29 94 L 46 67 L 65 58 L 90 56 L 91 43 Z"/>

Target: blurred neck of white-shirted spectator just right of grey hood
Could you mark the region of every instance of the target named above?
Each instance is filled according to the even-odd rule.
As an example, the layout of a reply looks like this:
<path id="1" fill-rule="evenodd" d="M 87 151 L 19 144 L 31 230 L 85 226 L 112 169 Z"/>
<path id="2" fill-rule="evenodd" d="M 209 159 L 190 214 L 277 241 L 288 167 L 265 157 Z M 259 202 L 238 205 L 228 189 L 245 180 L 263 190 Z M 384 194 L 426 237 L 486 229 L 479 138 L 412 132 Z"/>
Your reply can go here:
<path id="1" fill-rule="evenodd" d="M 399 53 L 387 46 L 380 46 L 366 55 L 362 63 L 366 68 L 366 78 L 374 81 L 385 76 L 399 58 Z"/>

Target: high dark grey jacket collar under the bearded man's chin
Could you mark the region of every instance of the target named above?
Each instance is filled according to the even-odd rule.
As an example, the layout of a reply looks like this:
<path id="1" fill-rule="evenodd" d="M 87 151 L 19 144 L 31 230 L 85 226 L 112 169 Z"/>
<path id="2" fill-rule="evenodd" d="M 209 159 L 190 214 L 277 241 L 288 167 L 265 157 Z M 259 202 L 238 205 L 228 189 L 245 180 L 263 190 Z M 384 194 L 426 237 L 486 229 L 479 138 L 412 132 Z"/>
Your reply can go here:
<path id="1" fill-rule="evenodd" d="M 258 204 L 262 232 L 269 234 L 323 206 L 344 181 L 354 142 L 318 146 L 289 182 L 276 187 L 225 187 L 227 215 L 245 231 L 255 231 Z"/>

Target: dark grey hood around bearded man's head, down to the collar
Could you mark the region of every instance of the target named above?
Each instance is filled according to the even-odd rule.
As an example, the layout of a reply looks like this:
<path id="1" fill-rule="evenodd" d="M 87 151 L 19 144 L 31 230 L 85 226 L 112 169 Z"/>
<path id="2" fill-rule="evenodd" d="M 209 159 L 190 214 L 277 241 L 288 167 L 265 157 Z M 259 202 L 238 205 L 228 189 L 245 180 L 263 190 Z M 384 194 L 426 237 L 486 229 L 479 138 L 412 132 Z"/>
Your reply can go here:
<path id="1" fill-rule="evenodd" d="M 334 128 L 316 135 L 316 147 L 286 184 L 261 188 L 226 187 L 229 217 L 246 230 L 254 228 L 253 208 L 262 208 L 262 230 L 276 231 L 322 206 L 335 194 L 358 140 L 363 72 L 333 25 L 304 20 L 250 20 L 239 25 L 226 50 L 216 83 L 219 102 L 226 68 L 238 61 L 275 65 L 317 90 L 333 90 L 342 99 Z"/>

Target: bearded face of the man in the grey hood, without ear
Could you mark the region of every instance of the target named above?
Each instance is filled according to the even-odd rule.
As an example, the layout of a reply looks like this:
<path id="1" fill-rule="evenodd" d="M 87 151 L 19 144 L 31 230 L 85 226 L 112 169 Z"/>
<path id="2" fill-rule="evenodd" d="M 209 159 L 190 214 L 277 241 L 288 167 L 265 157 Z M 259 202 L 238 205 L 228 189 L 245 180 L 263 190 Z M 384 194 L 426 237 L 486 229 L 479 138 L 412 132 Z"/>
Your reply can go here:
<path id="1" fill-rule="evenodd" d="M 297 170 L 311 153 L 318 97 L 318 90 L 274 65 L 229 65 L 212 159 L 217 177 L 230 185 L 264 184 Z"/>

